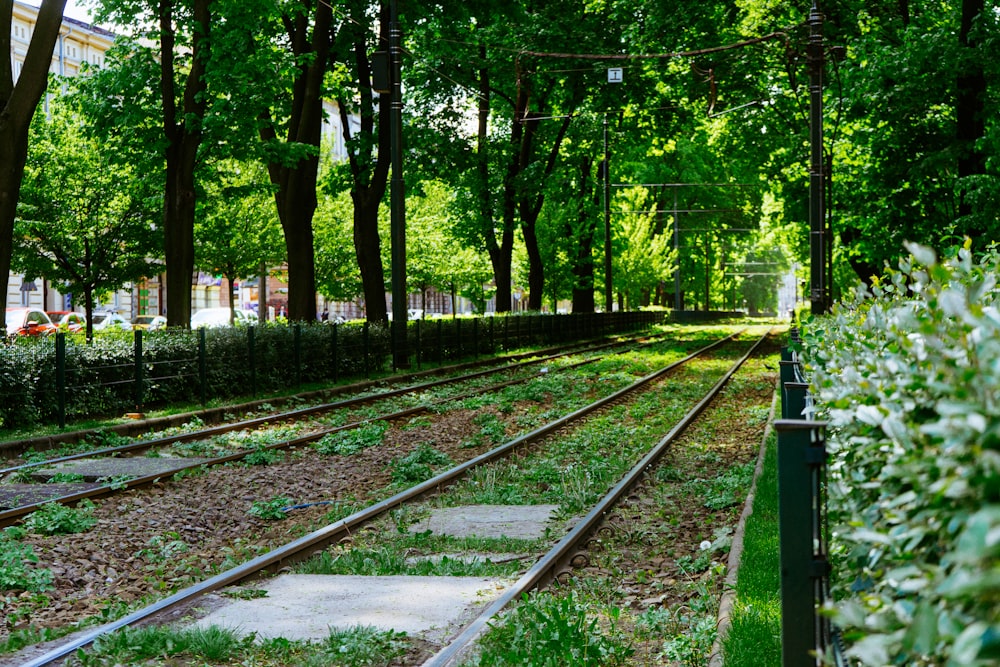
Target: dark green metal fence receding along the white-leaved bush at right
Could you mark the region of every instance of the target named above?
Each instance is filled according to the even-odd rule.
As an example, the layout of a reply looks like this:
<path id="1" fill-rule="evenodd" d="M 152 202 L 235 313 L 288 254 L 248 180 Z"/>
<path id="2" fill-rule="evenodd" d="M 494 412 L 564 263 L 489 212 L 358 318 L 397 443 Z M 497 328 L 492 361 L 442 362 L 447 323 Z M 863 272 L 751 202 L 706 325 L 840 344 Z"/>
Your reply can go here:
<path id="1" fill-rule="evenodd" d="M 813 420 L 809 384 L 796 348 L 781 352 L 778 435 L 778 522 L 781 552 L 782 667 L 819 667 L 824 657 L 846 664 L 836 629 L 819 610 L 830 599 L 826 520 L 826 422 Z"/>

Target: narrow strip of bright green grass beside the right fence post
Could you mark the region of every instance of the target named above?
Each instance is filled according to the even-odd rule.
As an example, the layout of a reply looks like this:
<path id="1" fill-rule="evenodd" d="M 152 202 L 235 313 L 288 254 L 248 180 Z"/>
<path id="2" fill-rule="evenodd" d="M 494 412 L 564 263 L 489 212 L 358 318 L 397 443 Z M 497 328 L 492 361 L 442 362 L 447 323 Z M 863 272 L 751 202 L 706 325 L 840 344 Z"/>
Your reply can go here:
<path id="1" fill-rule="evenodd" d="M 732 625 L 723 641 L 725 667 L 781 664 L 776 442 L 772 433 L 767 443 L 764 468 L 757 480 L 753 514 L 746 523 Z"/>

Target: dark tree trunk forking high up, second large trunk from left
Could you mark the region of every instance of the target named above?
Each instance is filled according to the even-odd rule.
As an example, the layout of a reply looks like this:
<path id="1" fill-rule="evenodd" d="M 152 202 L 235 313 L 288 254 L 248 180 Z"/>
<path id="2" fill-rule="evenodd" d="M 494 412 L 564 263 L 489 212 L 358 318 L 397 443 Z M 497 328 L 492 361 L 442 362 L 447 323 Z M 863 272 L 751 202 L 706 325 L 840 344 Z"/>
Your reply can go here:
<path id="1" fill-rule="evenodd" d="M 174 0 L 160 0 L 160 90 L 163 133 L 167 140 L 166 184 L 163 203 L 164 260 L 166 262 L 167 324 L 191 326 L 191 279 L 194 275 L 194 169 L 201 146 L 205 116 L 205 61 L 210 44 L 211 0 L 195 0 L 191 71 L 178 112 L 175 90 Z"/>

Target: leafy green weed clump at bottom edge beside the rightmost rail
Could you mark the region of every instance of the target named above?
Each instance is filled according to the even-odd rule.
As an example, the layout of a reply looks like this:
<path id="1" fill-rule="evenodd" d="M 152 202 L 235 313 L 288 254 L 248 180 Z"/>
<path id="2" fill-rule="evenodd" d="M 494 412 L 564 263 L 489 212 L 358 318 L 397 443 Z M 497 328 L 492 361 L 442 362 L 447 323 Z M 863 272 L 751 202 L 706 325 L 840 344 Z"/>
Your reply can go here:
<path id="1" fill-rule="evenodd" d="M 480 667 L 612 667 L 629 664 L 633 650 L 611 624 L 603 630 L 597 609 L 576 594 L 524 596 L 517 607 L 490 625 L 476 664 Z"/>

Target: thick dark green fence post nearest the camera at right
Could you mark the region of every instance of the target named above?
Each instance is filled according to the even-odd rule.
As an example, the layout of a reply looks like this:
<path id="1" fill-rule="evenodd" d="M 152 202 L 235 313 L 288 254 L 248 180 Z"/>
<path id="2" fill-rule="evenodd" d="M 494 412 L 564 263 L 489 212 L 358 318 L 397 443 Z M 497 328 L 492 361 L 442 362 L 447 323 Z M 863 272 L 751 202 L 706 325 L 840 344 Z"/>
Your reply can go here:
<path id="1" fill-rule="evenodd" d="M 778 530 L 781 553 L 782 667 L 816 667 L 825 620 L 816 613 L 826 561 L 821 471 L 825 422 L 782 419 L 778 434 Z"/>

